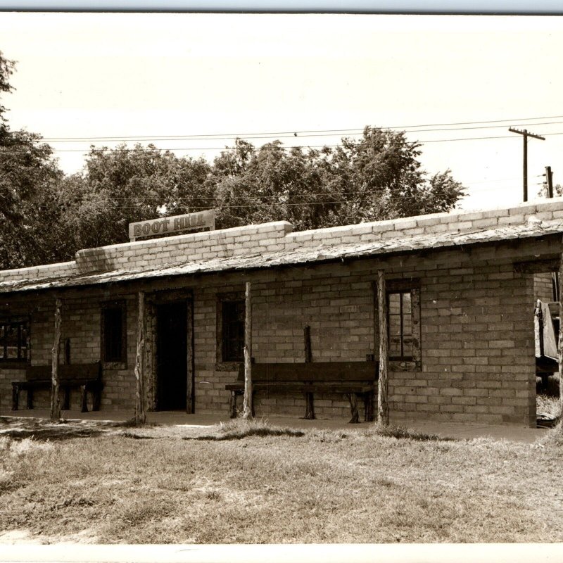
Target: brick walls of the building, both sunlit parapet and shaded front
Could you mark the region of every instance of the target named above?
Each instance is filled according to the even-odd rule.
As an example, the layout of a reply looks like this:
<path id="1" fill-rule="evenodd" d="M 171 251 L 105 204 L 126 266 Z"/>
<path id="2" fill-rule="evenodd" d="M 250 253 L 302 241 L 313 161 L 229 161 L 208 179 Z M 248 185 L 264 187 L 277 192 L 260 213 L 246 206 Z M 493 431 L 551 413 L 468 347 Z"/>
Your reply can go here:
<path id="1" fill-rule="evenodd" d="M 83 272 L 204 260 L 217 253 L 274 251 L 421 232 L 457 232 L 487 225 L 563 216 L 563 200 L 520 205 L 510 210 L 410 217 L 394 222 L 291 233 L 285 222 L 221 232 L 137 241 L 77 253 L 77 262 L 0 272 L 1 279 L 42 277 L 46 272 Z M 420 230 L 422 229 L 422 231 Z M 257 362 L 302 362 L 303 327 L 311 327 L 313 361 L 365 360 L 374 344 L 372 282 L 384 266 L 388 278 L 417 277 L 421 282 L 422 371 L 390 374 L 391 418 L 412 417 L 466 422 L 533 424 L 533 302 L 541 277 L 514 272 L 513 260 L 557 255 L 560 241 L 533 240 L 457 249 L 424 255 L 357 260 L 249 274 L 217 274 L 176 280 L 194 293 L 196 412 L 226 412 L 224 384 L 236 372 L 216 364 L 217 293 L 242 291 L 253 281 L 253 356 Z M 73 270 L 74 269 L 74 270 Z M 545 281 L 545 280 L 544 280 Z M 152 282 L 151 282 L 152 283 Z M 150 289 L 151 286 L 148 286 Z M 543 291 L 543 289 L 541 291 Z M 63 341 L 70 338 L 71 361 L 100 355 L 100 303 L 112 288 L 68 291 L 63 311 Z M 16 301 L 20 299 L 20 301 Z M 69 301 L 70 300 L 70 301 Z M 6 296 L 0 308 L 11 314 L 32 311 L 32 362 L 49 362 L 53 339 L 53 298 Z M 104 373 L 103 409 L 133 409 L 136 295 L 127 296 L 127 367 Z M 149 327 L 150 329 L 150 327 Z M 23 372 L 0 367 L 0 404 L 10 405 L 10 381 Z M 25 397 L 22 397 L 22 404 Z M 77 405 L 77 397 L 72 398 Z M 46 406 L 48 396 L 37 397 Z M 301 396 L 257 396 L 257 415 L 303 416 Z M 318 417 L 349 417 L 343 396 L 317 396 Z"/>

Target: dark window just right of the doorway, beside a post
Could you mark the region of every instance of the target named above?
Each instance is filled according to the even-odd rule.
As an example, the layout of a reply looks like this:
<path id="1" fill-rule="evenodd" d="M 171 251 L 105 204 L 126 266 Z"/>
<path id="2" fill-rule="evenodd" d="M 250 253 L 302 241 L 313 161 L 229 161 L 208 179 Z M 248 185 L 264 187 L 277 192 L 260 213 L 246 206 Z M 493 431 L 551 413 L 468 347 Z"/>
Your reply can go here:
<path id="1" fill-rule="evenodd" d="M 238 294 L 219 296 L 217 303 L 217 362 L 244 360 L 244 299 Z"/>

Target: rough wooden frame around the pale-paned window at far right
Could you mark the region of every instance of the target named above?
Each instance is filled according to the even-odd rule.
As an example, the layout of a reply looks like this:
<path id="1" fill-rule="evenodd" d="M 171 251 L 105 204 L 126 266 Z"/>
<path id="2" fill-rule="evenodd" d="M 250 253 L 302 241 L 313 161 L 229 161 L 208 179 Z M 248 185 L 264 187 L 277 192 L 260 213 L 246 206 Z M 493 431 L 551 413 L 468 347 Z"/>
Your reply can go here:
<path id="1" fill-rule="evenodd" d="M 389 322 L 389 296 L 393 293 L 410 292 L 410 324 L 412 331 L 412 355 L 389 355 L 389 369 L 396 372 L 422 371 L 421 353 L 421 322 L 420 322 L 420 280 L 418 278 L 388 279 L 385 284 L 387 310 L 387 336 L 391 323 Z M 374 356 L 379 358 L 379 303 L 377 298 L 377 281 L 373 283 L 374 290 Z M 403 321 L 401 320 L 401 323 Z M 402 332 L 402 331 L 401 331 Z"/>

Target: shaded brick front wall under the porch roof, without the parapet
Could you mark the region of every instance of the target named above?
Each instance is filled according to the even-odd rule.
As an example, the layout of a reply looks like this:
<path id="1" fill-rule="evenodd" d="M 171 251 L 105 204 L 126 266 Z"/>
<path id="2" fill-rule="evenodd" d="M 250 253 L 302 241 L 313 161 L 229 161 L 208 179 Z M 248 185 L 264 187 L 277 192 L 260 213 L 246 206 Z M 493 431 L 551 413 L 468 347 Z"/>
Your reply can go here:
<path id="1" fill-rule="evenodd" d="M 549 253 L 557 242 L 525 254 Z M 396 257 L 384 266 L 389 279 L 417 277 L 421 288 L 422 371 L 393 371 L 389 377 L 391 419 L 413 417 L 498 424 L 535 422 L 533 360 L 534 274 L 514 272 L 511 255 L 523 248 L 441 251 L 424 258 Z M 504 258 L 503 258 L 504 257 Z M 365 360 L 376 353 L 372 283 L 378 260 L 317 265 L 306 269 L 252 272 L 253 356 L 257 362 L 303 362 L 303 327 L 311 327 L 313 361 Z M 236 274 L 186 279 L 194 293 L 196 412 L 227 412 L 224 384 L 236 372 L 217 369 L 217 293 L 243 291 Z M 100 303 L 107 295 L 69 293 L 63 309 L 63 340 L 70 338 L 71 361 L 100 355 Z M 127 297 L 127 369 L 104 373 L 104 410 L 134 408 L 136 294 Z M 9 305 L 9 303 L 8 303 Z M 29 299 L 20 307 L 29 307 Z M 33 305 L 32 362 L 49 362 L 53 339 L 53 300 Z M 13 306 L 11 310 L 17 310 Z M 9 382 L 23 372 L 0 369 L 0 400 L 9 408 Z M 25 404 L 25 395 L 21 398 Z M 48 395 L 37 406 L 48 405 Z M 77 407 L 77 396 L 72 397 Z M 301 396 L 256 397 L 258 416 L 301 417 Z M 315 397 L 317 417 L 349 418 L 339 395 Z"/>

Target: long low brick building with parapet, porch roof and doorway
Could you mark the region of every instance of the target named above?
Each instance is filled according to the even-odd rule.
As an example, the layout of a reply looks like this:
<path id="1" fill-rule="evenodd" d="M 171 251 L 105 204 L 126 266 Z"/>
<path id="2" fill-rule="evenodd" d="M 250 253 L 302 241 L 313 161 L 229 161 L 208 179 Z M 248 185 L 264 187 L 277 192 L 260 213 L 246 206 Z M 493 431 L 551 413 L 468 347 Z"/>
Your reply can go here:
<path id="1" fill-rule="evenodd" d="M 0 272 L 0 407 L 29 365 L 49 365 L 56 298 L 61 362 L 102 362 L 101 410 L 133 410 L 138 296 L 146 300 L 150 410 L 227 412 L 251 281 L 255 362 L 377 360 L 377 271 L 387 280 L 392 422 L 536 422 L 533 304 L 551 300 L 563 199 L 292 232 L 272 222 L 77 252 Z M 376 374 L 374 373 L 374 379 Z M 78 406 L 76 393 L 71 408 Z M 48 407 L 49 392 L 34 396 Z M 256 415 L 303 416 L 299 393 L 258 393 Z M 338 393 L 317 417 L 348 417 Z"/>

